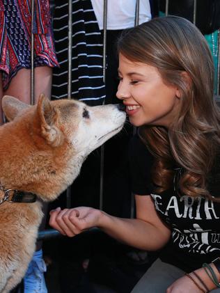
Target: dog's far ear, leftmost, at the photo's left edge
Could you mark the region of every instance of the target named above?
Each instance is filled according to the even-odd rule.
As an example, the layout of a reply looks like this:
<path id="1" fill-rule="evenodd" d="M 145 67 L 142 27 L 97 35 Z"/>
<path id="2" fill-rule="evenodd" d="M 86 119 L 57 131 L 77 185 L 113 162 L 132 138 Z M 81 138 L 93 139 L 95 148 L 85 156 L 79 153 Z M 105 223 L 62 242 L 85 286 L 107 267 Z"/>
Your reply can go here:
<path id="1" fill-rule="evenodd" d="M 22 110 L 29 108 L 28 104 L 19 101 L 16 97 L 4 95 L 1 100 L 3 113 L 8 121 L 13 120 Z"/>

